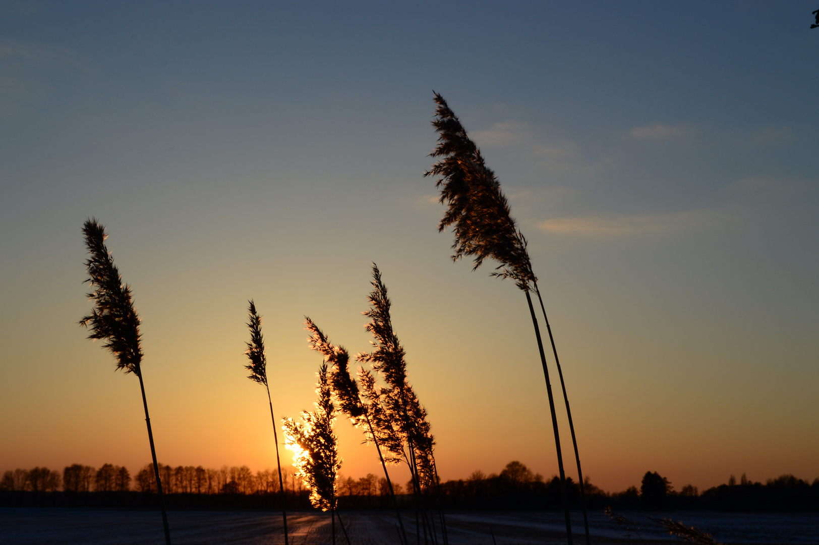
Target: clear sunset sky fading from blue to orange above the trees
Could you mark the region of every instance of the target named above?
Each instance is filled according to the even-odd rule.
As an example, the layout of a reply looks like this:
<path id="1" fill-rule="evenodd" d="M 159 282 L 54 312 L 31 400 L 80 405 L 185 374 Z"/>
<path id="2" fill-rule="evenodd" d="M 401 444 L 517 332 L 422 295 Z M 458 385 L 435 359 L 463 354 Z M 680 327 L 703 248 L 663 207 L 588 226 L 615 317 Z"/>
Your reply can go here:
<path id="1" fill-rule="evenodd" d="M 143 319 L 162 463 L 274 467 L 247 300 L 297 417 L 305 316 L 368 351 L 374 262 L 441 479 L 556 474 L 525 296 L 437 232 L 434 90 L 528 239 L 584 475 L 819 477 L 816 8 L 0 2 L 0 470 L 150 461 L 138 379 L 77 325 L 93 216 Z M 337 434 L 344 475 L 379 474 Z"/>

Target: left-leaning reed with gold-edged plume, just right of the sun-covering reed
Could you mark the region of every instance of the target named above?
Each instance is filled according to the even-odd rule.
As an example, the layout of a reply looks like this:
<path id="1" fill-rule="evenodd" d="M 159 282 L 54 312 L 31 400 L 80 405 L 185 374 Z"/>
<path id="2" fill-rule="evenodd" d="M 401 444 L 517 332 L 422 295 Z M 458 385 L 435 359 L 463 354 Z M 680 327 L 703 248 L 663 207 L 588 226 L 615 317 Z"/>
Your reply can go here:
<path id="1" fill-rule="evenodd" d="M 323 354 L 324 361 L 331 366 L 330 385 L 336 394 L 338 408 L 345 413 L 346 416 L 350 417 L 352 424 L 356 428 L 364 429 L 364 434 L 368 442 L 372 441 L 378 451 L 378 459 L 381 461 L 381 466 L 384 470 L 384 478 L 387 479 L 387 488 L 390 490 L 392 502 L 396 507 L 396 516 L 398 517 L 398 523 L 400 525 L 400 535 L 402 536 L 403 543 L 406 543 L 404 521 L 401 519 L 401 513 L 398 509 L 396 493 L 392 489 L 390 473 L 387 471 L 387 462 L 384 460 L 381 445 L 378 443 L 379 434 L 373 429 L 373 421 L 370 417 L 373 411 L 378 411 L 378 408 L 373 406 L 372 402 L 365 403 L 362 401 L 359 385 L 356 380 L 350 376 L 350 354 L 346 351 L 346 348 L 330 343 L 330 340 L 321 329 L 319 329 L 319 326 L 315 325 L 314 321 L 308 317 L 305 317 L 305 329 L 310 332 L 310 338 L 308 338 L 307 341 L 310 343 L 310 348 Z M 360 374 L 369 375 L 369 378 L 372 379 L 372 375 L 368 372 L 362 369 L 360 369 L 359 372 Z M 372 382 L 374 383 L 374 380 Z M 384 431 L 380 435 L 386 433 L 388 432 Z"/>

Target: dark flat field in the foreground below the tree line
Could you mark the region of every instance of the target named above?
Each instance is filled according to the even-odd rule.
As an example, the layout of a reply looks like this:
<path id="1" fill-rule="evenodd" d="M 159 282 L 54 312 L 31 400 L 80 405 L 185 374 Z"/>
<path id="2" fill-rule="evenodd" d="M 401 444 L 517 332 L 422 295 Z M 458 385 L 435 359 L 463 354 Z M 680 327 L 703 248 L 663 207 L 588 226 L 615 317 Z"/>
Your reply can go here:
<path id="1" fill-rule="evenodd" d="M 646 542 L 668 543 L 640 513 L 625 513 L 643 528 Z M 726 514 L 708 512 L 654 514 L 681 520 L 713 534 L 722 543 L 819 543 L 819 515 Z M 582 520 L 574 513 L 575 543 L 583 541 Z M 400 545 L 395 515 L 373 511 L 342 512 L 353 545 Z M 281 515 L 262 511 L 170 511 L 175 544 L 284 543 Z M 414 518 L 405 525 L 415 543 Z M 446 515 L 452 545 L 566 543 L 563 517 L 558 512 L 458 512 Z M 290 543 L 331 543 L 330 518 L 317 513 L 287 517 Z M 625 544 L 622 531 L 603 513 L 590 516 L 592 543 Z M 337 543 L 346 543 L 337 526 Z M 491 530 L 490 530 L 491 529 Z M 102 511 L 61 508 L 0 508 L 0 543 L 164 543 L 161 516 L 154 511 Z M 423 537 L 421 539 L 423 543 Z M 681 542 L 679 542 L 681 543 Z"/>

